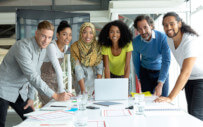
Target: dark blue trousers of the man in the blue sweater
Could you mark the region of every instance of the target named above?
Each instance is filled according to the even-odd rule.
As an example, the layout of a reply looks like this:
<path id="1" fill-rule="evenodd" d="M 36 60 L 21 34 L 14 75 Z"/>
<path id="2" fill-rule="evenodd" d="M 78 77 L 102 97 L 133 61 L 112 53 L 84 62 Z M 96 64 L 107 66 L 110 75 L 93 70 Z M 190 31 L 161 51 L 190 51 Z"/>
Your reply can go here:
<path id="1" fill-rule="evenodd" d="M 159 78 L 159 70 L 149 70 L 143 67 L 140 67 L 140 83 L 142 92 L 150 91 L 152 94 L 154 93 L 155 87 L 158 84 Z M 161 96 L 168 96 L 169 90 L 169 76 L 165 80 L 165 83 L 162 88 Z"/>

